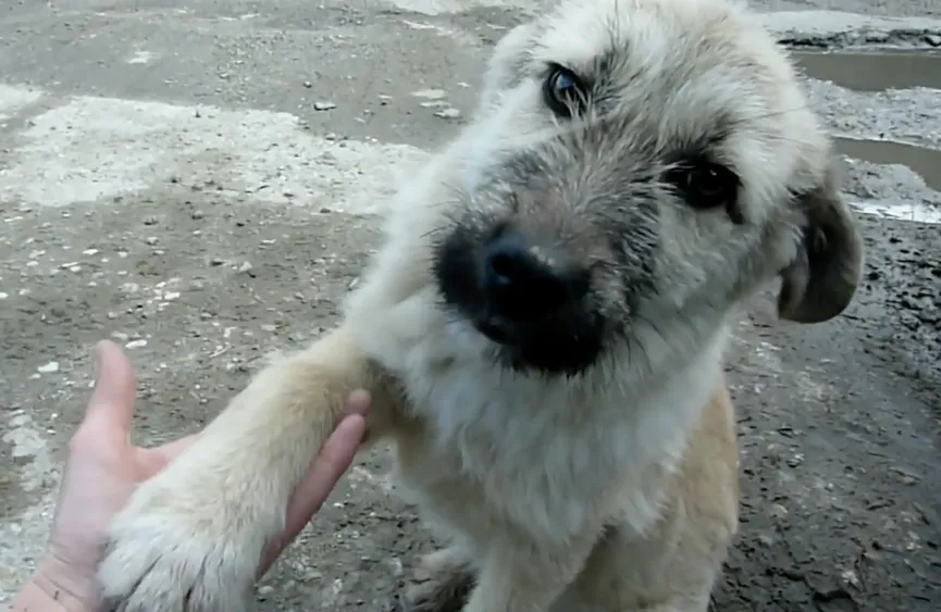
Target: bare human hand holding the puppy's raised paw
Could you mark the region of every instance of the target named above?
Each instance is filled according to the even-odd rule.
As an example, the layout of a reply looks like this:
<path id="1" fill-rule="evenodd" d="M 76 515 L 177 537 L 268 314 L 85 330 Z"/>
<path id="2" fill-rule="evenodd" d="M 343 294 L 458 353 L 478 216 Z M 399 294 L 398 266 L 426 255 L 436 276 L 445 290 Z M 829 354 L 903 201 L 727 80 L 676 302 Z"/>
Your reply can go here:
<path id="1" fill-rule="evenodd" d="M 35 591 L 38 587 L 47 595 L 55 594 L 54 599 L 67 603 L 62 608 L 70 610 L 98 609 L 95 574 L 112 517 L 137 485 L 163 470 L 198 436 L 156 448 L 132 446 L 131 419 L 137 378 L 114 344 L 100 342 L 97 355 L 95 390 L 85 420 L 69 444 L 48 553 L 28 585 L 32 588 L 24 589 Z M 347 416 L 323 444 L 308 477 L 292 496 L 286 527 L 262 559 L 259 576 L 304 528 L 349 469 L 366 432 L 363 415 L 369 400 L 364 391 L 350 394 Z"/>

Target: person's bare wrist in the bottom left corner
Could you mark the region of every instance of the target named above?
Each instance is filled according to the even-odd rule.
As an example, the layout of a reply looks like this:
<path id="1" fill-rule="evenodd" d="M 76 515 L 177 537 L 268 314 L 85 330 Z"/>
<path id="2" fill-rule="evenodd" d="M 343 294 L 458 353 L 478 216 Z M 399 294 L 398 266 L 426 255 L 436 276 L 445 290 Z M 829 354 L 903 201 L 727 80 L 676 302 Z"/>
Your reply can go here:
<path id="1" fill-rule="evenodd" d="M 94 578 L 78 575 L 57 559 L 46 559 L 20 590 L 10 612 L 99 612 Z"/>

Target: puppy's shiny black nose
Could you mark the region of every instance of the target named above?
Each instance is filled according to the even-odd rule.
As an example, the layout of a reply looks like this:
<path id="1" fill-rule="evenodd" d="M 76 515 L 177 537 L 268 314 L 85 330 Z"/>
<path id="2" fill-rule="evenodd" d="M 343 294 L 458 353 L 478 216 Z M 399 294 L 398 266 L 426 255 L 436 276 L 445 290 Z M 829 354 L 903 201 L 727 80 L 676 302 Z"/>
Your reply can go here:
<path id="1" fill-rule="evenodd" d="M 483 289 L 494 314 L 529 321 L 581 299 L 587 283 L 518 232 L 505 230 L 484 245 Z"/>

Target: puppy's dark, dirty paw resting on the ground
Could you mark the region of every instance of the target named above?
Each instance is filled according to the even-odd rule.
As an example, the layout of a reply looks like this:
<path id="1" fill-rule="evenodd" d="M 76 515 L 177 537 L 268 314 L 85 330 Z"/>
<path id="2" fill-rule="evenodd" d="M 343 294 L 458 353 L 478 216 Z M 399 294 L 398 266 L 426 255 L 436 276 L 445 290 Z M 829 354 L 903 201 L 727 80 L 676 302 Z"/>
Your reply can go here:
<path id="1" fill-rule="evenodd" d="M 460 612 L 475 577 L 472 565 L 459 550 L 437 550 L 421 559 L 414 580 L 398 608 L 401 612 Z"/>

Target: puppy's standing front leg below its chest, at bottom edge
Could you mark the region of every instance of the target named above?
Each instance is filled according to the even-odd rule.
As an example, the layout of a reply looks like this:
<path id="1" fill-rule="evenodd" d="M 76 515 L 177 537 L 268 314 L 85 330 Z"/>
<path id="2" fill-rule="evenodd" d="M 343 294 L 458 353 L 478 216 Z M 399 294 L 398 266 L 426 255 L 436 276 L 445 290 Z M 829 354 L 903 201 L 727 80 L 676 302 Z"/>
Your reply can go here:
<path id="1" fill-rule="evenodd" d="M 462 612 L 547 612 L 575 579 L 594 547 L 581 535 L 565 546 L 504 538 L 484 558 Z"/>

